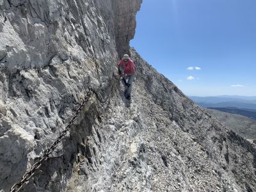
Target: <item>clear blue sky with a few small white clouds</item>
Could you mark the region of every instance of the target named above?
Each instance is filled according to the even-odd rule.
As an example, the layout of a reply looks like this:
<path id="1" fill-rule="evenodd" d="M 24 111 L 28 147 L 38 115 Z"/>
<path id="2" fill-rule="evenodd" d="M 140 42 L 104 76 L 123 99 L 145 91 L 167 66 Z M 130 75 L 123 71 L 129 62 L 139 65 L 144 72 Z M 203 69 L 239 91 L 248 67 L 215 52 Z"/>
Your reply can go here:
<path id="1" fill-rule="evenodd" d="M 186 95 L 256 95 L 255 0 L 143 0 L 136 20 L 130 45 Z"/>

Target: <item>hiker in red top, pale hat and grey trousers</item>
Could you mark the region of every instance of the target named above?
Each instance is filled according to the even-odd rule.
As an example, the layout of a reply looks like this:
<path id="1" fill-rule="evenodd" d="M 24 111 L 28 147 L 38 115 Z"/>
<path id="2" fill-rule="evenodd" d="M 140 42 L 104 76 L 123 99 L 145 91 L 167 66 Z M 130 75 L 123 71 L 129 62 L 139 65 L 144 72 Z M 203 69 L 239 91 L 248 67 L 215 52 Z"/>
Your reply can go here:
<path id="1" fill-rule="evenodd" d="M 135 66 L 128 54 L 124 54 L 123 59 L 118 65 L 118 74 L 122 77 L 122 83 L 124 84 L 126 99 L 131 100 L 132 82 L 135 77 Z"/>

